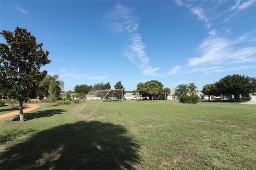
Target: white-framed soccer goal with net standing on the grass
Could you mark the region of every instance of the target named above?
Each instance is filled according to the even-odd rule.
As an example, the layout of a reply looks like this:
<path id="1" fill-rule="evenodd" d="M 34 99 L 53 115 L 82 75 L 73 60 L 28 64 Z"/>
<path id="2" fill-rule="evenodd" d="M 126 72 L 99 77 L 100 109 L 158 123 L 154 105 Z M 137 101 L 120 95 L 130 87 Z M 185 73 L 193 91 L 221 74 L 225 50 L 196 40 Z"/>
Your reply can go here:
<path id="1" fill-rule="evenodd" d="M 123 89 L 89 91 L 74 111 L 83 117 L 92 115 L 118 113 L 123 114 Z"/>

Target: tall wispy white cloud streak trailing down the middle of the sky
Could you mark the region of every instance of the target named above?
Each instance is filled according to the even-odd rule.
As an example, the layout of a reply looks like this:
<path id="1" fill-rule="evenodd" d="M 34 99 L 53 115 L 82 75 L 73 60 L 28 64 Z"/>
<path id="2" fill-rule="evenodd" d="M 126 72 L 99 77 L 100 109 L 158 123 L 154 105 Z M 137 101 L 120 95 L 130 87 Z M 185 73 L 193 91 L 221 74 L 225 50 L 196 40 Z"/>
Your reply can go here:
<path id="1" fill-rule="evenodd" d="M 130 62 L 139 67 L 143 75 L 151 75 L 153 77 L 164 77 L 171 74 L 160 74 L 160 67 L 153 67 L 149 64 L 149 57 L 146 53 L 146 45 L 142 41 L 141 35 L 138 33 L 140 19 L 134 15 L 133 8 L 117 4 L 114 11 L 109 13 L 108 17 L 112 22 L 115 32 L 122 32 L 130 39 L 130 46 L 124 55 L 129 58 Z M 174 72 L 171 72 L 174 74 Z"/>

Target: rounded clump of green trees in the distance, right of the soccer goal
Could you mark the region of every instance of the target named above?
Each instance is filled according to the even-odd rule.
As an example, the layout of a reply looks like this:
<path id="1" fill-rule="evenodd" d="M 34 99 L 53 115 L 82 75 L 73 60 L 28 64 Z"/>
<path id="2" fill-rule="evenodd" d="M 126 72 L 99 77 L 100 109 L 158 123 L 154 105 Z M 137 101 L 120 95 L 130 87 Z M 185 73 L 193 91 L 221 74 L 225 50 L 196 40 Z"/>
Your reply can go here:
<path id="1" fill-rule="evenodd" d="M 141 100 L 143 96 L 150 96 L 152 101 L 154 100 L 154 96 L 166 99 L 166 96 L 171 94 L 171 89 L 164 88 L 163 84 L 157 80 L 138 83 L 137 91 L 140 94 Z"/>

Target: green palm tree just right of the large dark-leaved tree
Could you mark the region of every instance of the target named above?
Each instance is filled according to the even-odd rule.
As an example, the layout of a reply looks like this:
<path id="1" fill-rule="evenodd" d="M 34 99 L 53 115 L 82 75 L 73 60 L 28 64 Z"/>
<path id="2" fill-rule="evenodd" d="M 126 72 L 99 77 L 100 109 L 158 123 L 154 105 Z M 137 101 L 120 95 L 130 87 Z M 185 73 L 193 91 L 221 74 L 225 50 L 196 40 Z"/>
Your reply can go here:
<path id="1" fill-rule="evenodd" d="M 64 82 L 58 80 L 59 75 L 46 75 L 41 81 L 40 87 L 43 89 L 43 93 L 53 103 L 57 96 L 60 96 L 61 91 L 64 88 Z"/>

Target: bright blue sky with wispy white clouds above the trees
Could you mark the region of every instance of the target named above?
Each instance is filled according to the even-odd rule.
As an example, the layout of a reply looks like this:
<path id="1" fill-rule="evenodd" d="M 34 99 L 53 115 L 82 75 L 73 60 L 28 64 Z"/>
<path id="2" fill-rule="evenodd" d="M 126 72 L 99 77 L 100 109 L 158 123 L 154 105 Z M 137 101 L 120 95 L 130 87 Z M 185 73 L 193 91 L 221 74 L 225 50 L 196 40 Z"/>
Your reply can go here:
<path id="1" fill-rule="evenodd" d="M 161 81 L 198 89 L 227 74 L 256 77 L 256 0 L 1 1 L 0 28 L 27 28 L 76 84 Z M 0 38 L 1 43 L 5 42 Z"/>

